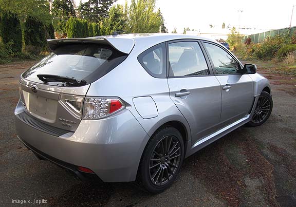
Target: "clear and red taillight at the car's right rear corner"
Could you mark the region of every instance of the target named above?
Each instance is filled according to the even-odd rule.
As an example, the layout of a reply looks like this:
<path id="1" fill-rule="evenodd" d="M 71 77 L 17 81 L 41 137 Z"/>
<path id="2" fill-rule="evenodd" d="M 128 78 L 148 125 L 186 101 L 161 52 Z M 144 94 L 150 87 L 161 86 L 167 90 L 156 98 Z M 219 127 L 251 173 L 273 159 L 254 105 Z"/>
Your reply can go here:
<path id="1" fill-rule="evenodd" d="M 86 97 L 83 105 L 83 119 L 102 119 L 124 108 L 117 98 Z"/>

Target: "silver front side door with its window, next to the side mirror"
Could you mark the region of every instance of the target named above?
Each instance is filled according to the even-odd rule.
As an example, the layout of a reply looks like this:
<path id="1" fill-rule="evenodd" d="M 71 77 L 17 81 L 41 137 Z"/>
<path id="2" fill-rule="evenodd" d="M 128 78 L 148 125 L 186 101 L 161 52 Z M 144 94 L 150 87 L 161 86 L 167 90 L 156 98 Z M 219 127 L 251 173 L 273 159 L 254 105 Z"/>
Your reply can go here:
<path id="1" fill-rule="evenodd" d="M 241 64 L 234 56 L 215 43 L 203 42 L 213 71 L 221 84 L 222 110 L 221 126 L 226 126 L 245 117 L 254 100 L 253 81 L 244 74 Z"/>

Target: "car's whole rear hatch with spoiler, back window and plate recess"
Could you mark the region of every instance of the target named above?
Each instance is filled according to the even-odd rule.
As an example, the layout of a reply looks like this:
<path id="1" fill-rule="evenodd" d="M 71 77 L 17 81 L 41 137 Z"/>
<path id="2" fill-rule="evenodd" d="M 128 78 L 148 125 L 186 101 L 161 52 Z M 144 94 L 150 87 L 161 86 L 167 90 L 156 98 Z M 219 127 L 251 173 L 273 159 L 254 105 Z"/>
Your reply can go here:
<path id="1" fill-rule="evenodd" d="M 123 62 L 134 42 L 102 37 L 48 43 L 52 53 L 21 76 L 21 102 L 35 120 L 75 131 L 90 84 Z"/>

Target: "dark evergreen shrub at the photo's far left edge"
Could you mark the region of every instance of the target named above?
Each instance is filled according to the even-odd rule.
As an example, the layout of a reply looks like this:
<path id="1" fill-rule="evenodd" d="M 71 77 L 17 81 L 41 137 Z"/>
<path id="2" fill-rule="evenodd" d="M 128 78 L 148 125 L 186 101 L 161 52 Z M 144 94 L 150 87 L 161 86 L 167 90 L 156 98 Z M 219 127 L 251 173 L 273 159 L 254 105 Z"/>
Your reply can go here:
<path id="1" fill-rule="evenodd" d="M 15 13 L 1 11 L 0 35 L 4 44 L 11 44 L 12 55 L 22 52 L 22 29 L 20 19 Z"/>

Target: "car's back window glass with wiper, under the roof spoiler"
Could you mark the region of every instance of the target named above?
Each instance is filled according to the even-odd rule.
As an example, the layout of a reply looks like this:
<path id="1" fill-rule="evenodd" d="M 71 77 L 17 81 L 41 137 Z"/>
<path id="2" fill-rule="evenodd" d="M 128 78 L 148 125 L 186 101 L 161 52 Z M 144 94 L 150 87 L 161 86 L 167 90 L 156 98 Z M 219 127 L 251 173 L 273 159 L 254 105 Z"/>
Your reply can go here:
<path id="1" fill-rule="evenodd" d="M 23 73 L 29 81 L 55 86 L 90 84 L 119 65 L 127 57 L 109 45 L 62 45 Z"/>

